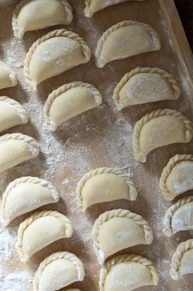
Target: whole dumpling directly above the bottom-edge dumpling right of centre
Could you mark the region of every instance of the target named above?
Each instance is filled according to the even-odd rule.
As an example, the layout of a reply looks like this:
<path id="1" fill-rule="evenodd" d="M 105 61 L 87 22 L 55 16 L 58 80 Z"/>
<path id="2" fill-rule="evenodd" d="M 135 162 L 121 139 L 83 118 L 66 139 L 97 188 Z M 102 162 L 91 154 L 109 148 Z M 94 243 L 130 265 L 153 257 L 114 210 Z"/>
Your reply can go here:
<path id="1" fill-rule="evenodd" d="M 116 209 L 102 213 L 93 226 L 94 251 L 98 262 L 116 252 L 137 244 L 150 244 L 151 227 L 142 216 L 129 210 Z"/>

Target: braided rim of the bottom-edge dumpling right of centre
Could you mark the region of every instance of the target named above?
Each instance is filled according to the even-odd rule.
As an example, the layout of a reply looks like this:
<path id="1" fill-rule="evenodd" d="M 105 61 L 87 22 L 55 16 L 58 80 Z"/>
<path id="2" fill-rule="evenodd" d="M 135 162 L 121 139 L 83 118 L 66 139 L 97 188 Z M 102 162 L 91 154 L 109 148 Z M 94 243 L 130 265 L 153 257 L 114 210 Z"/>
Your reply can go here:
<path id="1" fill-rule="evenodd" d="M 156 286 L 158 285 L 158 281 L 159 281 L 158 272 L 150 260 L 145 259 L 142 256 L 134 255 L 134 254 L 132 254 L 132 255 L 120 255 L 120 256 L 117 256 L 117 257 L 109 260 L 102 267 L 102 269 L 100 271 L 100 281 L 99 281 L 100 291 L 105 291 L 104 285 L 105 285 L 106 276 L 109 273 L 109 271 L 111 270 L 111 268 L 114 265 L 117 265 L 119 263 L 129 262 L 129 261 L 143 264 L 144 266 L 149 268 L 149 271 L 152 275 L 152 281 L 153 281 L 154 285 L 156 285 Z"/>

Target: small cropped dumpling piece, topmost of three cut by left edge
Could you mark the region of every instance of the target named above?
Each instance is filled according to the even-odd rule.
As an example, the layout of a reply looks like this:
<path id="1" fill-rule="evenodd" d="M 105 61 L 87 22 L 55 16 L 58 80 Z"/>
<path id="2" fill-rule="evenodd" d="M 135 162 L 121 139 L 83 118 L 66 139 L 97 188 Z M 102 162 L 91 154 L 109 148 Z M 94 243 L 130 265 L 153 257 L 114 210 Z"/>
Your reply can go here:
<path id="1" fill-rule="evenodd" d="M 8 66 L 0 62 L 0 89 L 14 87 L 17 84 L 17 74 Z"/>

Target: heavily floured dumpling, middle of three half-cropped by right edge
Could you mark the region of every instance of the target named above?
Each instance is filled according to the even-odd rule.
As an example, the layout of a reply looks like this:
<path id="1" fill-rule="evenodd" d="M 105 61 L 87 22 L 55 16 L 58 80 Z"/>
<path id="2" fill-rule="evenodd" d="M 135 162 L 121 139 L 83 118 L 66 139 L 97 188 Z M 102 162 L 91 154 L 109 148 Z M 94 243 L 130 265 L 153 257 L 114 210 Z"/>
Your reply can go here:
<path id="1" fill-rule="evenodd" d="M 193 196 L 184 197 L 172 205 L 163 219 L 163 233 L 168 238 L 181 230 L 193 229 Z"/>

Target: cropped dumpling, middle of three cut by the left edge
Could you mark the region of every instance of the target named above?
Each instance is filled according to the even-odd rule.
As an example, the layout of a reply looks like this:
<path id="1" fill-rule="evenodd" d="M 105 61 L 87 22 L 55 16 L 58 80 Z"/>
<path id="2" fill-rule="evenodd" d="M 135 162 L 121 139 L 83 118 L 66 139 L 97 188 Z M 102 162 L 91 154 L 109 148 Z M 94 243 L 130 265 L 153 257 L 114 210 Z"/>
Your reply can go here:
<path id="1" fill-rule="evenodd" d="M 17 101 L 0 96 L 0 132 L 28 122 L 28 113 Z"/>

